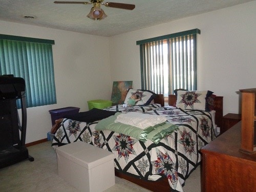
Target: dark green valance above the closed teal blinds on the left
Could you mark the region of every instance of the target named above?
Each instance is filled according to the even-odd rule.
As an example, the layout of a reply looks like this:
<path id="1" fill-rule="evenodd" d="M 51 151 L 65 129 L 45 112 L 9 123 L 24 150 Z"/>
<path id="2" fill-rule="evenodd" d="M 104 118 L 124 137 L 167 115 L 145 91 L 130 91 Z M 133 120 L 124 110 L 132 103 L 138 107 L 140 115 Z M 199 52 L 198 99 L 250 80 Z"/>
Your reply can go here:
<path id="1" fill-rule="evenodd" d="M 25 41 L 25 42 L 38 42 L 38 43 L 41 43 L 41 44 L 51 44 L 51 45 L 54 45 L 54 40 L 39 39 L 39 38 L 32 38 L 32 37 L 22 37 L 22 36 L 0 34 L 0 39 Z"/>

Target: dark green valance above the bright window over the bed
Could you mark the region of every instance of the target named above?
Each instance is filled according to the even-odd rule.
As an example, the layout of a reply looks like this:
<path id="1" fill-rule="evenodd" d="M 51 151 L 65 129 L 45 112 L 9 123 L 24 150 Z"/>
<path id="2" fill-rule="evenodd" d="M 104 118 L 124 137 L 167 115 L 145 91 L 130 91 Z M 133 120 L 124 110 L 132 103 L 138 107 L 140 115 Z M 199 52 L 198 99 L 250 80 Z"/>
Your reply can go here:
<path id="1" fill-rule="evenodd" d="M 136 45 L 142 45 L 142 44 L 146 44 L 147 42 L 153 42 L 153 41 L 157 41 L 157 40 L 164 40 L 164 39 L 170 39 L 170 38 L 175 38 L 175 37 L 180 37 L 180 36 L 185 36 L 185 35 L 192 35 L 192 34 L 200 34 L 200 33 L 201 33 L 201 31 L 199 29 L 191 29 L 188 31 L 182 31 L 182 32 L 178 32 L 178 33 L 162 35 L 159 37 L 138 40 L 138 41 L 136 41 Z"/>

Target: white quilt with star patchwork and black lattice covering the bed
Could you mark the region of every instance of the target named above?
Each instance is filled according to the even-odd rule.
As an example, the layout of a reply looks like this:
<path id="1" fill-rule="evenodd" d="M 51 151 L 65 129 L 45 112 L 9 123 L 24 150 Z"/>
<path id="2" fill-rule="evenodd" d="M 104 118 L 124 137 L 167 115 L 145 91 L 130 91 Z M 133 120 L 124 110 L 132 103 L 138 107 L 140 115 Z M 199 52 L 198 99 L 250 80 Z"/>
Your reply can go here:
<path id="1" fill-rule="evenodd" d="M 172 191 L 183 191 L 185 179 L 201 161 L 199 150 L 215 138 L 211 113 L 167 107 L 137 109 L 147 114 L 166 116 L 167 121 L 179 128 L 155 144 L 151 140 L 142 142 L 131 136 L 108 130 L 95 131 L 98 121 L 86 123 L 64 119 L 55 134 L 52 146 L 77 140 L 90 143 L 113 152 L 115 167 L 120 172 L 129 173 L 143 180 L 165 177 Z M 124 111 L 127 108 L 121 109 L 117 106 L 108 110 Z"/>

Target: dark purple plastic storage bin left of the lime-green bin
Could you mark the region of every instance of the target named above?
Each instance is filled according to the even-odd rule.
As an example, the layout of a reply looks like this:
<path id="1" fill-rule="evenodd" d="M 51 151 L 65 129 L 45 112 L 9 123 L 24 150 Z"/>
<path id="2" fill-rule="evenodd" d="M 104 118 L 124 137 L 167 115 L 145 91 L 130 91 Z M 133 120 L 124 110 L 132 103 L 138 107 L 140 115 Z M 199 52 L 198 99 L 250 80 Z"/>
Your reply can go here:
<path id="1" fill-rule="evenodd" d="M 80 108 L 74 106 L 68 106 L 67 108 L 60 108 L 55 110 L 49 110 L 52 119 L 52 125 L 55 124 L 55 120 L 65 118 L 68 115 L 75 115 L 79 113 Z"/>

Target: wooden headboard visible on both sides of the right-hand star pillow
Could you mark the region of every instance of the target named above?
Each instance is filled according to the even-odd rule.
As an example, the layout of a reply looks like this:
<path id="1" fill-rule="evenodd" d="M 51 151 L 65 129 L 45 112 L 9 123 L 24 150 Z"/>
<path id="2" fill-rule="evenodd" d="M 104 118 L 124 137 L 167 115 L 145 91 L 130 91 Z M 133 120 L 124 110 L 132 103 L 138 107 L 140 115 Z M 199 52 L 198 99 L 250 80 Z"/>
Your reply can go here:
<path id="1" fill-rule="evenodd" d="M 176 103 L 176 95 L 169 95 L 168 97 L 168 104 L 170 106 L 174 106 Z M 222 117 L 223 117 L 223 97 L 216 96 L 214 99 L 214 110 L 216 111 L 215 114 L 215 123 L 221 127 L 222 125 Z"/>

